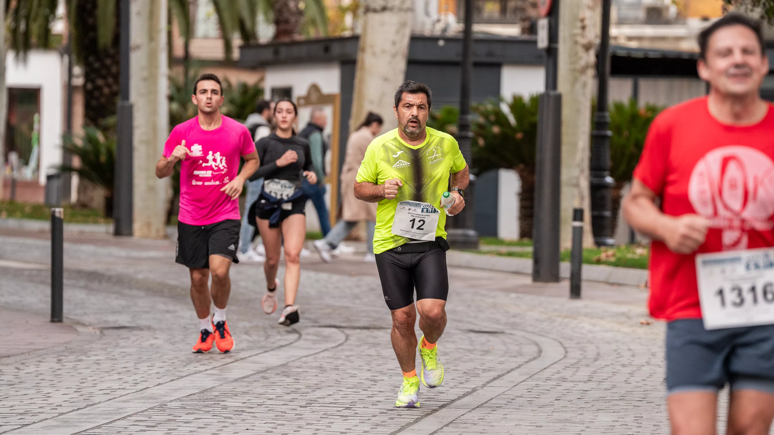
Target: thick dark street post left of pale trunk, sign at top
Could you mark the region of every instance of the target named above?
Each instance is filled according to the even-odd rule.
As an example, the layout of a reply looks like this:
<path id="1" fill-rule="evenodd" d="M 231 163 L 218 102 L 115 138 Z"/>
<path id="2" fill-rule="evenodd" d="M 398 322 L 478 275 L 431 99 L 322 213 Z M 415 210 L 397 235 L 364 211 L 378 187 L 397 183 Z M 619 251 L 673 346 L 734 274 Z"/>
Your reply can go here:
<path id="1" fill-rule="evenodd" d="M 540 94 L 533 208 L 533 281 L 560 281 L 562 94 L 557 92 L 559 1 L 541 0 L 538 48 L 546 52 L 546 92 Z"/>

